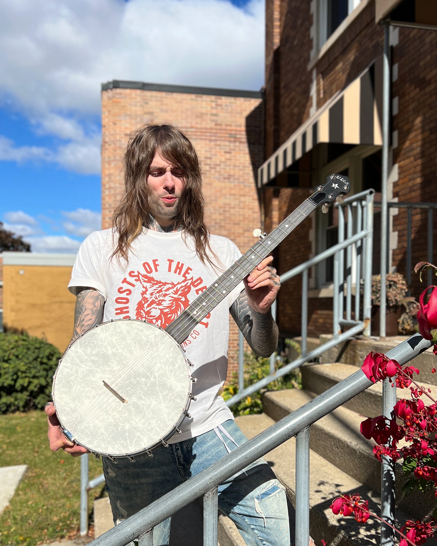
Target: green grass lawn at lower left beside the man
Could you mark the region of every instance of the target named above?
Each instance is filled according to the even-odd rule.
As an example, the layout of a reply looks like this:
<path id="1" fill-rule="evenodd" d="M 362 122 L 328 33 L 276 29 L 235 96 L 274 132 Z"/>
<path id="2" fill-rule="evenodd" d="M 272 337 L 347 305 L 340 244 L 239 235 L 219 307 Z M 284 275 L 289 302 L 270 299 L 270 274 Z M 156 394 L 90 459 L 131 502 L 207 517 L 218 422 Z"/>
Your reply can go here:
<path id="1" fill-rule="evenodd" d="M 80 521 L 80 457 L 50 451 L 43 411 L 0 416 L 0 466 L 11 465 L 28 468 L 0 515 L 0 544 L 33 546 L 75 535 Z M 89 478 L 101 472 L 101 460 L 89 456 Z M 90 515 L 103 487 L 90 492 Z"/>

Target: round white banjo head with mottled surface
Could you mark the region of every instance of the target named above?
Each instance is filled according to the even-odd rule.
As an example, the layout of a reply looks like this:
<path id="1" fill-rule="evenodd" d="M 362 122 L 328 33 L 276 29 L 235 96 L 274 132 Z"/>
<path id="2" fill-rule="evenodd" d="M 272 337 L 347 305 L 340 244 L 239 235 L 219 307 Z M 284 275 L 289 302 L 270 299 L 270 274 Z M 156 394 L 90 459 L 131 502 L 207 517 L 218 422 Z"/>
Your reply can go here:
<path id="1" fill-rule="evenodd" d="M 123 457 L 172 436 L 191 394 L 181 346 L 147 322 L 99 324 L 65 352 L 53 377 L 62 428 L 89 451 Z"/>

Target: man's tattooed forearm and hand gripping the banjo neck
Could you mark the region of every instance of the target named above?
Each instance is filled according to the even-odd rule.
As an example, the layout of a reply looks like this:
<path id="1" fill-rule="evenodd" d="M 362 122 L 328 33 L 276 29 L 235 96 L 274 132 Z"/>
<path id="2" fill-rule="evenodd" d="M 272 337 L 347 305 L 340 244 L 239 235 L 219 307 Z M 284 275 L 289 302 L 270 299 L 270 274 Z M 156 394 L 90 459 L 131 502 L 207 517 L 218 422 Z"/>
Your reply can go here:
<path id="1" fill-rule="evenodd" d="M 270 357 L 278 346 L 278 327 L 274 322 L 271 305 L 280 288 L 276 269 L 270 267 L 272 257 L 262 260 L 247 279 L 246 290 L 230 308 L 234 321 L 249 346 L 261 357 Z"/>

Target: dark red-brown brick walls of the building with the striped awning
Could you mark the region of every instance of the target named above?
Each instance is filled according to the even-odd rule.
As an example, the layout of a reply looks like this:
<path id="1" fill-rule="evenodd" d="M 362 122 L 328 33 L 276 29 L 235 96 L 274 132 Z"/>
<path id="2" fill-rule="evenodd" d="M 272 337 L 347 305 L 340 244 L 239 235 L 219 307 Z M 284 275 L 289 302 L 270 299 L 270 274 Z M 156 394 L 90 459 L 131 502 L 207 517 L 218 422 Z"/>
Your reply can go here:
<path id="1" fill-rule="evenodd" d="M 280 36 L 273 50 L 273 20 L 280 2 Z M 382 53 L 384 28 L 375 25 L 375 5 L 369 2 L 345 29 L 314 67 L 309 67 L 310 27 L 313 17 L 310 2 L 303 0 L 267 0 L 266 5 L 266 121 L 265 155 L 277 147 L 306 121 L 311 104 L 309 96 L 312 70 L 316 71 L 316 108 L 319 109 L 334 93 L 342 90 Z M 399 113 L 392 117 L 392 130 L 398 131 L 398 146 L 393 149 L 393 164 L 398 164 L 399 177 L 393 183 L 393 197 L 400 201 L 435 201 L 437 181 L 437 33 L 399 28 L 399 44 L 392 48 L 392 64 L 398 63 L 399 77 L 392 85 L 392 97 L 399 97 Z M 279 58 L 274 65 L 273 51 Z M 277 90 L 279 82 L 279 92 Z M 279 105 L 279 106 L 278 106 Z M 279 112 L 279 113 L 278 113 Z M 276 135 L 278 137 L 276 138 Z M 305 157 L 305 156 L 304 156 Z M 306 166 L 308 167 L 308 165 Z M 310 165 L 310 168 L 313 167 Z M 303 168 L 302 161 L 300 165 Z M 280 183 L 278 181 L 277 183 Z M 313 186 L 316 184 L 313 181 Z M 273 191 L 277 192 L 274 197 Z M 300 190 L 299 190 L 300 191 Z M 278 193 L 279 192 L 279 193 Z M 289 192 L 292 197 L 285 197 Z M 274 227 L 276 210 L 284 200 L 284 208 L 298 205 L 301 195 L 295 189 L 265 188 L 265 225 Z M 282 210 L 282 209 L 281 209 Z M 283 218 L 279 212 L 278 218 Z M 437 225 L 437 212 L 435 213 Z M 412 266 L 427 259 L 427 217 L 416 211 L 412 216 Z M 309 258 L 310 244 L 307 221 L 279 248 L 276 257 L 279 272 Z M 398 231 L 398 248 L 393 251 L 392 265 L 405 274 L 406 212 L 394 217 L 393 230 Z M 378 245 L 380 235 L 376 234 Z M 434 229 L 434 241 L 437 229 Z M 434 245 L 435 246 L 435 245 Z M 434 262 L 437 256 L 434 255 Z M 291 265 L 292 266 L 292 265 Z M 413 293 L 422 286 L 413 275 Z M 285 334 L 300 331 L 301 279 L 284 283 L 278 298 L 279 326 Z M 331 300 L 332 301 L 332 300 Z M 331 304 L 332 305 L 332 304 Z M 331 307 L 332 308 L 332 307 Z M 319 333 L 331 330 L 332 312 L 328 300 L 309 301 L 309 330 Z"/>

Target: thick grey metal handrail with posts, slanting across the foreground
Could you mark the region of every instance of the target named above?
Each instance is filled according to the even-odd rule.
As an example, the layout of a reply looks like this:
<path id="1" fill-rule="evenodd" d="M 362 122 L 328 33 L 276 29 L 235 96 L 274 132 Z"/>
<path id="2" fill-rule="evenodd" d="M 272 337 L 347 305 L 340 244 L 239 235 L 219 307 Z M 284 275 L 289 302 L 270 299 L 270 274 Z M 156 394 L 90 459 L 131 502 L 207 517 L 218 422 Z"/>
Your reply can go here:
<path id="1" fill-rule="evenodd" d="M 404 365 L 431 346 L 432 341 L 424 340 L 420 334 L 416 334 L 391 349 L 387 353 L 387 357 Z M 91 545 L 125 546 L 139 537 L 139 546 L 152 545 L 153 527 L 200 496 L 204 496 L 204 498 L 207 496 L 204 506 L 207 507 L 208 520 L 209 518 L 217 520 L 217 486 L 219 484 L 293 436 L 298 435 L 299 452 L 303 455 L 309 452 L 308 427 L 371 385 L 373 383 L 362 370 L 352 373 L 351 376 L 273 424 L 243 446 L 224 456 L 223 459 L 214 462 L 187 482 L 177 486 L 104 535 L 94 539 Z M 298 466 L 300 462 L 297 459 L 296 457 L 296 465 Z M 308 504 L 301 506 L 301 499 L 308 498 L 307 474 L 307 472 L 296 472 L 296 512 L 299 516 L 296 517 L 296 546 L 308 545 L 309 508 Z M 384 509 L 384 506 L 381 508 Z M 208 532 L 211 528 L 215 533 L 212 538 L 205 535 L 205 530 Z M 203 536 L 204 544 L 214 544 L 215 546 L 217 544 L 217 526 L 215 526 L 215 530 L 213 525 L 204 526 Z"/>

